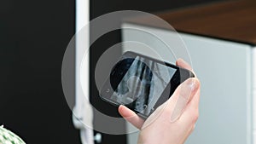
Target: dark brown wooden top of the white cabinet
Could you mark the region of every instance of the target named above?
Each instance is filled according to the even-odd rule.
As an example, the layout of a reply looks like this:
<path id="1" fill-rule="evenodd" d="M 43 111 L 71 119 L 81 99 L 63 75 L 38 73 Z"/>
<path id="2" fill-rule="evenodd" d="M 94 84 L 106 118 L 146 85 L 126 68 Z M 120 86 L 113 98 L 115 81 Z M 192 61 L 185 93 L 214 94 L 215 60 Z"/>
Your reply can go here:
<path id="1" fill-rule="evenodd" d="M 157 13 L 177 31 L 256 44 L 256 1 L 210 3 Z M 167 28 L 147 17 L 130 22 Z"/>

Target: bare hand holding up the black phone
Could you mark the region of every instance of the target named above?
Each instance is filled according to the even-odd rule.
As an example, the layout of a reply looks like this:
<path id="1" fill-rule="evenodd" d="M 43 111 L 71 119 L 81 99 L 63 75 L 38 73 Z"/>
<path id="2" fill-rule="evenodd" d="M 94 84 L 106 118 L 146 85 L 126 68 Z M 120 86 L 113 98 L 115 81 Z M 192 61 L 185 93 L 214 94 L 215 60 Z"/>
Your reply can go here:
<path id="1" fill-rule="evenodd" d="M 176 65 L 192 71 L 182 59 L 178 59 Z M 183 144 L 195 129 L 199 100 L 200 82 L 197 78 L 189 78 L 146 121 L 125 106 L 119 106 L 119 113 L 141 130 L 138 144 Z"/>

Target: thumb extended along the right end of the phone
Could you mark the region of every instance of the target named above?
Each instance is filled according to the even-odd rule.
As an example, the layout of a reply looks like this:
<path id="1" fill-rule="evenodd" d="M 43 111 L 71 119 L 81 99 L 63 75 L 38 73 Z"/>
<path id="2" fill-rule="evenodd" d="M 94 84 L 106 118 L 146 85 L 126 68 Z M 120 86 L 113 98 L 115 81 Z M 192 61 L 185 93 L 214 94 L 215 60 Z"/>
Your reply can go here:
<path id="1" fill-rule="evenodd" d="M 183 113 L 184 108 L 187 106 L 190 98 L 195 95 L 195 92 L 199 89 L 199 83 L 195 78 L 189 78 L 182 85 L 177 98 L 177 103 L 172 111 L 171 122 L 177 121 L 177 119 Z"/>

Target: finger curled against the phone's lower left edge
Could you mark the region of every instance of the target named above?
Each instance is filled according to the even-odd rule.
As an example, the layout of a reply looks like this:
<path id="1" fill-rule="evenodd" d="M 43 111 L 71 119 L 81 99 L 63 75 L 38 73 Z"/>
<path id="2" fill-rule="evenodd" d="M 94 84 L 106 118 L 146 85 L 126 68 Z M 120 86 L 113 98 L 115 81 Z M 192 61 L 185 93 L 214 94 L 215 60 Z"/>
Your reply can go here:
<path id="1" fill-rule="evenodd" d="M 143 118 L 140 118 L 135 112 L 131 111 L 129 108 L 127 108 L 123 105 L 120 105 L 119 113 L 128 122 L 130 122 L 132 125 L 137 127 L 137 129 L 140 130 L 142 128 L 142 126 L 144 124 Z"/>

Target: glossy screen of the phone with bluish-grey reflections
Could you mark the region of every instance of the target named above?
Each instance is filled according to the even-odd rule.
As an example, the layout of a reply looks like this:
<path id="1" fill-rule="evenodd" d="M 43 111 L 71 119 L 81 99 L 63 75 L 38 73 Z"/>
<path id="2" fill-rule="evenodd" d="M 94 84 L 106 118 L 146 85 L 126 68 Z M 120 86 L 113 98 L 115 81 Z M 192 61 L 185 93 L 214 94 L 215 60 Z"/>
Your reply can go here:
<path id="1" fill-rule="evenodd" d="M 122 60 L 119 72 L 126 73 L 111 99 L 148 116 L 176 69 L 137 56 Z"/>

